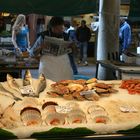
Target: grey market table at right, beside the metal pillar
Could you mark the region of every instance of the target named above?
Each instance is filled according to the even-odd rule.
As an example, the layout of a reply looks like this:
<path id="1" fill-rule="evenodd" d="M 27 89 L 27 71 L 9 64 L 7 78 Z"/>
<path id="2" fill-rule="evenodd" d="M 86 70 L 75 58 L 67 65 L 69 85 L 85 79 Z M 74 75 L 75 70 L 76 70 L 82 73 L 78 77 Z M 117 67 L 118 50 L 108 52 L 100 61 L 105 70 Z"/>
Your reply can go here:
<path id="1" fill-rule="evenodd" d="M 140 65 L 123 63 L 120 61 L 97 60 L 96 61 L 96 77 L 98 74 L 99 64 L 104 68 L 112 69 L 116 72 L 117 79 L 134 79 L 140 77 Z"/>

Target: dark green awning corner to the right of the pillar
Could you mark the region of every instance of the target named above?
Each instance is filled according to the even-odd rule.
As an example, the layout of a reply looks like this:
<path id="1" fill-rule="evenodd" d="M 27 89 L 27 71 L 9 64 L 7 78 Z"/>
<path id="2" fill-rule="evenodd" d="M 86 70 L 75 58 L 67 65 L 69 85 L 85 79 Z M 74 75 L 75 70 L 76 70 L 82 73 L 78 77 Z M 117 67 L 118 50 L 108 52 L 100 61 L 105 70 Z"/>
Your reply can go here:
<path id="1" fill-rule="evenodd" d="M 130 1 L 130 11 L 128 19 L 131 21 L 140 21 L 140 0 Z"/>

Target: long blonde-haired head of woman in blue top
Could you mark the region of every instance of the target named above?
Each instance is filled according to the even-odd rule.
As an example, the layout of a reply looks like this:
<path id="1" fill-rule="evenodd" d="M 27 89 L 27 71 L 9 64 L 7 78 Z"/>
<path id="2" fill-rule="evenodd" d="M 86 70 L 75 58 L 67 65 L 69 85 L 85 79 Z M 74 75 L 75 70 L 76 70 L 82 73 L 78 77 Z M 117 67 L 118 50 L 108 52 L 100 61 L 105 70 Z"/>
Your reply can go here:
<path id="1" fill-rule="evenodd" d="M 25 18 L 25 15 L 23 14 L 20 14 L 17 16 L 16 18 L 16 21 L 13 25 L 13 29 L 17 29 L 17 28 L 20 28 L 21 26 L 25 25 L 26 24 L 26 18 Z"/>

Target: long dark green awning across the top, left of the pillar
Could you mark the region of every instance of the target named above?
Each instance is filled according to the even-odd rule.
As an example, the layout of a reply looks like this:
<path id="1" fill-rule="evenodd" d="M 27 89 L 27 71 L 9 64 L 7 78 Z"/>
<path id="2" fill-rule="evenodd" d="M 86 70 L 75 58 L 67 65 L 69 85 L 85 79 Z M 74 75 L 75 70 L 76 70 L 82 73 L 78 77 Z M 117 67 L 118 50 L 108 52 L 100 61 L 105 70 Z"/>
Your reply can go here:
<path id="1" fill-rule="evenodd" d="M 0 12 L 73 16 L 97 12 L 97 0 L 0 0 Z"/>

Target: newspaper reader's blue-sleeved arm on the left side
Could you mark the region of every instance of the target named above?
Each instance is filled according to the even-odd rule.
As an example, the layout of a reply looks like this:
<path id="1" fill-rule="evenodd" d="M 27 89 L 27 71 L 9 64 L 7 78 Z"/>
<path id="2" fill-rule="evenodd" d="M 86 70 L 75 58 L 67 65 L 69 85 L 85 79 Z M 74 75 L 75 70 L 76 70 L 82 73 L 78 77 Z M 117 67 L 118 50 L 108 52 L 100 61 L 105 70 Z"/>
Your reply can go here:
<path id="1" fill-rule="evenodd" d="M 42 50 L 41 44 L 43 43 L 43 38 L 42 36 L 39 36 L 38 39 L 36 40 L 35 44 L 30 48 L 30 56 L 37 56 L 40 54 L 40 51 Z"/>

